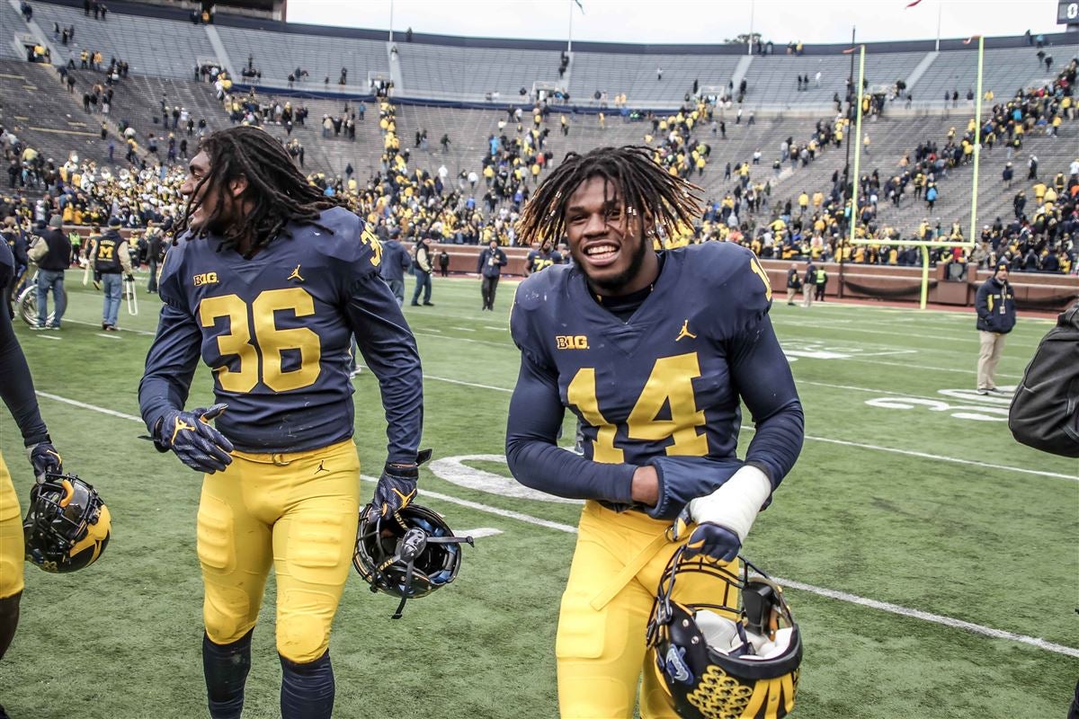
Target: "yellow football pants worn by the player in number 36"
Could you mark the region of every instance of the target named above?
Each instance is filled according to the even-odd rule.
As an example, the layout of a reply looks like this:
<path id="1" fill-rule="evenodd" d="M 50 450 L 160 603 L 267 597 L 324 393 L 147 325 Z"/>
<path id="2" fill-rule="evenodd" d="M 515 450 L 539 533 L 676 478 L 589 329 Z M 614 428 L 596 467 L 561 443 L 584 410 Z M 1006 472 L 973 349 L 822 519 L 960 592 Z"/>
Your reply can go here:
<path id="1" fill-rule="evenodd" d="M 277 577 L 277 651 L 322 656 L 352 566 L 359 517 L 359 457 L 352 440 L 289 454 L 233 452 L 203 478 L 199 561 L 203 620 L 232 644 L 258 620 L 271 561 Z"/>

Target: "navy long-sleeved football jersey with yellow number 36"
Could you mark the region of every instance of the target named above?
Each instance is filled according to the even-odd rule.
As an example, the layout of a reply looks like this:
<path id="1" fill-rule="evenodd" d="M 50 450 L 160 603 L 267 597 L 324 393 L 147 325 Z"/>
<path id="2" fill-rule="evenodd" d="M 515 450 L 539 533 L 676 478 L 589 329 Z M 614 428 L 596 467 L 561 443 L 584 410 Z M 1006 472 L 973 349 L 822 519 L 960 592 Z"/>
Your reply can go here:
<path id="1" fill-rule="evenodd" d="M 139 387 L 153 427 L 182 407 L 199 358 L 214 372 L 217 428 L 238 450 L 299 452 L 352 437 L 351 336 L 379 378 L 390 461 L 414 461 L 422 424 L 415 340 L 379 278 L 381 245 L 343 208 L 290 224 L 254 258 L 214 236 L 165 255 L 164 306 Z M 328 232 L 329 231 L 329 232 Z"/>

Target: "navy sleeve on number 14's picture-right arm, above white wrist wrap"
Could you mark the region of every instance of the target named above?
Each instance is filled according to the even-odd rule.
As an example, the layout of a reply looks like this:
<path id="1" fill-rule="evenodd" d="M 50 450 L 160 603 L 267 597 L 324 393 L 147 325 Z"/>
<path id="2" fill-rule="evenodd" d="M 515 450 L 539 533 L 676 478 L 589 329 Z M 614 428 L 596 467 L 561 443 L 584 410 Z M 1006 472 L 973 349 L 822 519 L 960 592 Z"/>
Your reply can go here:
<path id="1" fill-rule="evenodd" d="M 756 425 L 746 461 L 762 469 L 775 489 L 794 467 L 805 440 L 805 417 L 791 365 L 767 316 L 728 340 L 727 351 L 732 382 Z"/>

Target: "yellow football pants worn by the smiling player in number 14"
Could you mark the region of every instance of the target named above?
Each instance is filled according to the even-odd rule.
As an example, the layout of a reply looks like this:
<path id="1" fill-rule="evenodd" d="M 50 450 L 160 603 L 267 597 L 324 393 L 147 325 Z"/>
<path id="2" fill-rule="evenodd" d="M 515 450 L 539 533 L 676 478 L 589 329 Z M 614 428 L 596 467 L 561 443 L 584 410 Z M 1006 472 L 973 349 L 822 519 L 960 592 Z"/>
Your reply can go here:
<path id="1" fill-rule="evenodd" d="M 659 579 L 679 547 L 666 537 L 670 524 L 585 503 L 555 642 L 562 719 L 630 719 L 639 683 L 642 719 L 677 719 L 644 637 Z M 737 572 L 737 561 L 728 568 Z M 680 575 L 672 598 L 737 606 L 737 595 L 724 600 L 723 591 L 713 578 Z"/>

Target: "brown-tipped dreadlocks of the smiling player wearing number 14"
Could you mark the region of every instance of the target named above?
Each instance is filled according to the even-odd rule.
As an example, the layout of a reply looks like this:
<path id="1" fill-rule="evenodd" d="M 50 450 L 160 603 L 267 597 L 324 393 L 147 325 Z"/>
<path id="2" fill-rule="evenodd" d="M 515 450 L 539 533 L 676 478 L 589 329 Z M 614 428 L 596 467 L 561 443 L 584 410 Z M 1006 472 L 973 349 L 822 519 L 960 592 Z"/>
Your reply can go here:
<path id="1" fill-rule="evenodd" d="M 535 191 L 517 221 L 525 245 L 565 235 L 565 206 L 570 196 L 591 177 L 602 177 L 626 206 L 623 223 L 641 217 L 663 227 L 668 237 L 679 224 L 692 225 L 700 217 L 700 188 L 670 175 L 652 160 L 652 148 L 626 146 L 597 148 L 588 154 L 570 152 L 562 164 Z"/>

